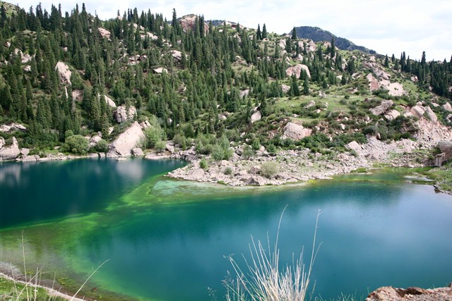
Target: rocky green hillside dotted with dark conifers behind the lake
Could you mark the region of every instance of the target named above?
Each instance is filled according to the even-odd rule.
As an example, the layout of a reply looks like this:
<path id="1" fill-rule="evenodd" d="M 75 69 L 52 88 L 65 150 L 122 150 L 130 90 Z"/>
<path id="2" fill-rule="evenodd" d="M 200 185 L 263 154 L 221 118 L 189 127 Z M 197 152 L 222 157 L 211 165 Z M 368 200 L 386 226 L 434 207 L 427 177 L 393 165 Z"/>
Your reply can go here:
<path id="1" fill-rule="evenodd" d="M 347 154 L 371 166 L 384 159 L 366 150 L 371 142 L 383 154 L 390 142 L 415 141 L 412 150 L 451 138 L 452 61 L 343 50 L 328 32 L 321 42 L 291 39 L 176 11 L 165 22 L 136 9 L 109 20 L 84 5 L 1 9 L 3 160 L 153 151 L 203 158 L 207 170 L 307 150 L 307 159 Z M 338 160 L 338 173 L 349 169 Z"/>

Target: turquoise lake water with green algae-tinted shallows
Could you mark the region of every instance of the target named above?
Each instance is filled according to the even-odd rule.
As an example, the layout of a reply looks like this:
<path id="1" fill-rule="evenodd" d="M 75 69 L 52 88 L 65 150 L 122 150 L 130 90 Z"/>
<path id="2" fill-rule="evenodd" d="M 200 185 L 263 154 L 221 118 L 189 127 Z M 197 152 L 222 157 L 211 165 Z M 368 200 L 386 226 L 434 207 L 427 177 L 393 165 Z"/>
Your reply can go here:
<path id="1" fill-rule="evenodd" d="M 314 297 L 365 297 L 383 285 L 437 287 L 452 281 L 452 197 L 406 183 L 405 170 L 264 189 L 153 176 L 181 164 L 77 160 L 27 166 L 14 180 L 6 180 L 7 168 L 22 170 L 25 164 L 2 165 L 1 260 L 20 262 L 16 253 L 25 228 L 30 262 L 45 262 L 49 271 L 73 279 L 70 285 L 83 283 L 93 267 L 109 259 L 86 288 L 88 293 L 97 288 L 106 300 L 213 300 L 212 294 L 224 300 L 222 280 L 232 271 L 225 256 L 234 254 L 244 264 L 251 235 L 264 243 L 268 237 L 273 245 L 287 206 L 279 235 L 284 265 L 303 246 L 309 261 L 316 214 L 322 211 Z M 68 184 L 64 173 L 77 176 Z M 30 190 L 36 186 L 23 184 L 37 174 L 47 175 L 39 202 Z M 54 196 L 55 188 L 66 187 L 60 180 L 70 194 L 62 199 L 63 192 Z M 42 208 L 9 217 L 5 212 L 23 208 L 18 191 L 22 203 Z M 85 199 L 83 193 L 96 197 Z M 44 210 L 55 202 L 61 204 Z"/>

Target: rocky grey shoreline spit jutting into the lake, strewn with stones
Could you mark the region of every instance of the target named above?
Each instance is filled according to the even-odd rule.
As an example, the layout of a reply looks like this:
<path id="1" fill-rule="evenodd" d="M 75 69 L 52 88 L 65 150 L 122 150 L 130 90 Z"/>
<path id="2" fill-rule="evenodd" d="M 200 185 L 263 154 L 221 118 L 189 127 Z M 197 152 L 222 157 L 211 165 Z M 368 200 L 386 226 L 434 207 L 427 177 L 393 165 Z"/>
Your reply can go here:
<path id="1" fill-rule="evenodd" d="M 243 158 L 242 148 L 235 147 L 229 161 L 213 161 L 210 156 L 191 156 L 189 165 L 178 168 L 167 176 L 230 186 L 283 185 L 329 178 L 362 168 L 369 169 L 375 164 L 411 168 L 431 166 L 428 153 L 434 145 L 421 145 L 420 142 L 412 140 L 384 143 L 370 137 L 365 145 L 350 142 L 346 147 L 348 152 L 335 154 L 312 153 L 309 149 L 269 154 L 265 149 L 261 149 L 251 158 Z M 417 149 L 425 152 L 415 154 Z M 146 157 L 157 159 L 159 156 Z M 169 157 L 186 159 L 183 152 Z M 201 166 L 202 158 L 208 162 L 208 166 Z M 273 164 L 273 167 L 270 164 Z M 273 168 L 271 173 L 266 171 L 266 165 Z"/>

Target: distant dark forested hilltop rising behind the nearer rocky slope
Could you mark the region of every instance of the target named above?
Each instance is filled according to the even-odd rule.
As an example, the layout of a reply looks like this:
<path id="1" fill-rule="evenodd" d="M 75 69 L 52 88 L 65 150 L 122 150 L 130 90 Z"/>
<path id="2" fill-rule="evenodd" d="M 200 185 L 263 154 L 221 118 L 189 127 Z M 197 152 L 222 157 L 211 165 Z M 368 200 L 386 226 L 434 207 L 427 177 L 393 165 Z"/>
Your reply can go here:
<path id="1" fill-rule="evenodd" d="M 322 30 L 319 27 L 299 26 L 295 27 L 295 32 L 297 33 L 297 37 L 299 37 L 300 39 L 312 39 L 314 42 L 331 41 L 331 39 L 334 39 L 336 47 L 342 50 L 360 50 L 369 54 L 376 53 L 374 50 L 367 49 L 363 46 L 358 46 L 348 39 L 344 39 L 343 37 L 336 37 L 331 32 Z M 292 30 L 290 30 L 289 34 L 292 35 Z"/>

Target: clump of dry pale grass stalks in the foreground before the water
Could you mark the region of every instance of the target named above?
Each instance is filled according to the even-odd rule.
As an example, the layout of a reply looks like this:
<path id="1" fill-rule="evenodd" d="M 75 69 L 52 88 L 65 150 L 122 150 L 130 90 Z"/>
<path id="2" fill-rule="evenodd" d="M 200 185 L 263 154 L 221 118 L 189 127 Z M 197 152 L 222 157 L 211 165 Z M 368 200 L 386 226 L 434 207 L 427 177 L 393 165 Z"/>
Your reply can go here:
<path id="1" fill-rule="evenodd" d="M 285 209 L 280 216 L 273 250 L 270 248 L 268 235 L 267 248 L 263 247 L 260 240 L 256 242 L 251 236 L 251 245 L 249 245 L 251 260 L 246 260 L 242 254 L 246 264 L 246 272 L 242 270 L 232 256 L 227 257 L 235 273 L 234 279 L 229 274 L 224 281 L 227 301 L 304 301 L 306 299 L 311 271 L 320 247 L 320 245 L 316 247 L 316 236 L 321 211 L 318 211 L 316 217 L 309 266 L 306 266 L 303 262 L 304 248 L 302 248 L 299 258 L 295 261 L 295 255 L 292 254 L 292 264 L 287 264 L 285 269 L 280 271 L 278 239 Z"/>

